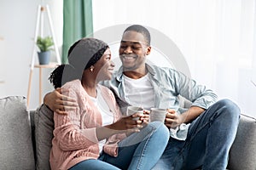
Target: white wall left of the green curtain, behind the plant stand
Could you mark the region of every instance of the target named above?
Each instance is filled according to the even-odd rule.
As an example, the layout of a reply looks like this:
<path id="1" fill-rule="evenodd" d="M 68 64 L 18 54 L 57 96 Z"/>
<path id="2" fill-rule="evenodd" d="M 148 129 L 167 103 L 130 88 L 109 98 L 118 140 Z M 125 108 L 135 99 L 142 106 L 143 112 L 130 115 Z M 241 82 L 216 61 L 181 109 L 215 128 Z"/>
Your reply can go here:
<path id="1" fill-rule="evenodd" d="M 57 46 L 62 44 L 62 1 L 1 0 L 0 1 L 0 98 L 9 95 L 27 95 L 33 38 L 35 34 L 38 4 L 49 4 Z M 57 7 L 57 8 L 56 8 Z M 44 35 L 49 35 L 48 20 L 44 17 Z M 59 50 L 60 51 L 60 50 Z M 52 61 L 55 61 L 53 52 Z M 36 63 L 38 58 L 36 56 Z M 43 95 L 52 90 L 45 69 Z M 39 105 L 38 69 L 32 75 L 31 102 L 29 109 Z"/>

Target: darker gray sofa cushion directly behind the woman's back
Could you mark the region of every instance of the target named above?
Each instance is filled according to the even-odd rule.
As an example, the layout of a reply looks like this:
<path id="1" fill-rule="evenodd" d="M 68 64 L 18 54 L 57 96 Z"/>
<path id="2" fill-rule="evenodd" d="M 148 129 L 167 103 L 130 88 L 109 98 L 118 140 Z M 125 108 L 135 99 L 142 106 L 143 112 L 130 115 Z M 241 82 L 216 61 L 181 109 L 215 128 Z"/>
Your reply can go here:
<path id="1" fill-rule="evenodd" d="M 36 141 L 36 167 L 38 170 L 50 169 L 49 152 L 53 138 L 54 119 L 53 112 L 45 105 L 41 105 L 35 112 L 35 141 Z"/>

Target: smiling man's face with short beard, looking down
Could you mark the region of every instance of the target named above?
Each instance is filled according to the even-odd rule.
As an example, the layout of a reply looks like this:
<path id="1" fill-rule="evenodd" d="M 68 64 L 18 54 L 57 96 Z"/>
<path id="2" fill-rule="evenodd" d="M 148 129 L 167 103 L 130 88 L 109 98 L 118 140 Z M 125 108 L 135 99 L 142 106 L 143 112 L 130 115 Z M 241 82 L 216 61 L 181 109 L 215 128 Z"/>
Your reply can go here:
<path id="1" fill-rule="evenodd" d="M 125 31 L 119 47 L 119 57 L 124 70 L 135 71 L 144 66 L 150 49 L 143 34 L 137 31 Z"/>

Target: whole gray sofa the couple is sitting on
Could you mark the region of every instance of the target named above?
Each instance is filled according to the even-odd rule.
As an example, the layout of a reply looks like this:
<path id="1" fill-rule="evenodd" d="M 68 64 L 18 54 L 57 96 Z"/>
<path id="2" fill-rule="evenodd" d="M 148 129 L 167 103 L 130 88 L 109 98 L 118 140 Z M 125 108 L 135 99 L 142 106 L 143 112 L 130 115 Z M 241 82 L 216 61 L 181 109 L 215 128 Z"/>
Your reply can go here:
<path id="1" fill-rule="evenodd" d="M 21 96 L 0 99 L 0 169 L 49 169 L 52 116 L 45 105 L 27 111 L 26 98 Z M 256 169 L 255 118 L 241 115 L 228 168 Z"/>

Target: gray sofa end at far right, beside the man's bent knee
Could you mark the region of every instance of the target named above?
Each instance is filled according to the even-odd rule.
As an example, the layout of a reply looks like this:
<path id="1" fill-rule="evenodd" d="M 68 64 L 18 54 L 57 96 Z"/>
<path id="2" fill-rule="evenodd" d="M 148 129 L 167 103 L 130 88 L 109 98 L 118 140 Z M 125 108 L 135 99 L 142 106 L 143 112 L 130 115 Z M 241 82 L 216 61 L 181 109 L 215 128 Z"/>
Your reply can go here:
<path id="1" fill-rule="evenodd" d="M 230 149 L 229 168 L 232 170 L 256 169 L 256 120 L 241 115 L 236 139 Z"/>

